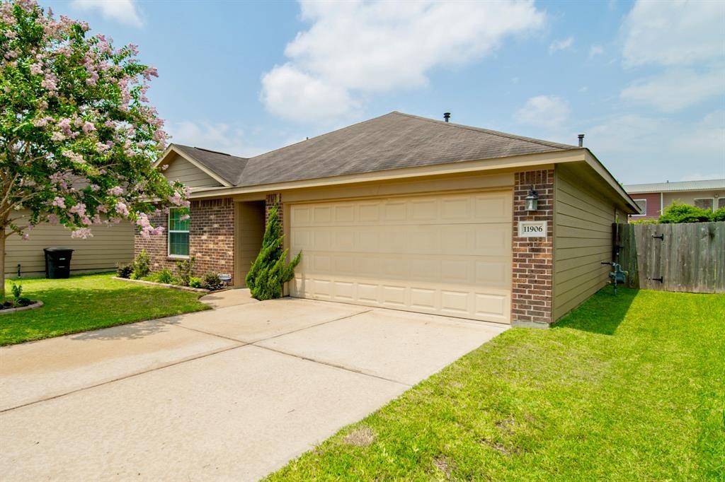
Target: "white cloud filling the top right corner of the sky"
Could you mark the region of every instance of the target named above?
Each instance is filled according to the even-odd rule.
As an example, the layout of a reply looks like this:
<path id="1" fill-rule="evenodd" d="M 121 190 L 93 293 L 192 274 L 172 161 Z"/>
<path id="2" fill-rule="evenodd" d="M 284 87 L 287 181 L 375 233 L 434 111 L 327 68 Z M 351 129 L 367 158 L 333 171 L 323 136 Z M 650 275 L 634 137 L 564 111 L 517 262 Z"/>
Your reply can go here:
<path id="1" fill-rule="evenodd" d="M 684 65 L 722 57 L 722 1 L 639 0 L 624 21 L 624 64 Z"/>

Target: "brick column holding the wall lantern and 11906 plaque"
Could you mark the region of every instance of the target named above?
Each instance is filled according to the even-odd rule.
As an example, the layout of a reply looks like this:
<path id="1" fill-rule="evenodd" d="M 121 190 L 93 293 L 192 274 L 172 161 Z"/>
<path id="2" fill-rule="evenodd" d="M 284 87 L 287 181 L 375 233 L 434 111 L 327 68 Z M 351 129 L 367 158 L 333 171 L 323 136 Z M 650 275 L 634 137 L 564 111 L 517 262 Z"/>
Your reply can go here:
<path id="1" fill-rule="evenodd" d="M 525 209 L 529 190 L 539 193 L 535 213 Z M 546 237 L 519 237 L 518 221 L 546 221 Z M 511 324 L 547 327 L 552 323 L 554 171 L 517 172 L 513 187 L 513 276 Z"/>

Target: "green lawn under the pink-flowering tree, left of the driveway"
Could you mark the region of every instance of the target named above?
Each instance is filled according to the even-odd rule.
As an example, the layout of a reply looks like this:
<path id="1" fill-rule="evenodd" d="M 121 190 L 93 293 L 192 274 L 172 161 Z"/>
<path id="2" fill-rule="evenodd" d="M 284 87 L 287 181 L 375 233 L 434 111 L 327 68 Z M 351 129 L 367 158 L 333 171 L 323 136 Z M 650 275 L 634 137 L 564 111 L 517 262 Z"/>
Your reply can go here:
<path id="1" fill-rule="evenodd" d="M 0 346 L 209 308 L 199 302 L 199 293 L 122 282 L 111 276 L 9 280 L 5 284 L 8 295 L 12 282 L 20 282 L 23 296 L 45 305 L 0 314 Z"/>

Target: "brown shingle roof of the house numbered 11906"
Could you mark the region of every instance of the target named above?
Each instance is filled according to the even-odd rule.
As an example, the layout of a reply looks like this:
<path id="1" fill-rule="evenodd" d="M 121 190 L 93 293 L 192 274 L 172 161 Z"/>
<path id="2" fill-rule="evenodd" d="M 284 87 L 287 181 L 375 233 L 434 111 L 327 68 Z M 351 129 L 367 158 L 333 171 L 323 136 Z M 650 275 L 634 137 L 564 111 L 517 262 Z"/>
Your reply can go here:
<path id="1" fill-rule="evenodd" d="M 576 145 L 391 112 L 252 158 L 173 144 L 233 186 L 568 151 Z"/>

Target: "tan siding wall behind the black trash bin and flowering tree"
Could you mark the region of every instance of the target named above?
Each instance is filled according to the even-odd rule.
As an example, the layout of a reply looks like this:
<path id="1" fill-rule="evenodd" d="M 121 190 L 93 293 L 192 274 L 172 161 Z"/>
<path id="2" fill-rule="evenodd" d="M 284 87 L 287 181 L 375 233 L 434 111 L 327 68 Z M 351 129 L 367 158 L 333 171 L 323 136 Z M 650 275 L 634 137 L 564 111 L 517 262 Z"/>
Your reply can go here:
<path id="1" fill-rule="evenodd" d="M 116 263 L 128 263 L 133 259 L 133 228 L 128 221 L 112 227 L 98 226 L 91 229 L 93 237 L 88 240 L 74 240 L 70 231 L 62 226 L 44 223 L 30 231 L 30 238 L 23 241 L 13 234 L 8 237 L 5 254 L 5 273 L 43 274 L 45 258 L 43 248 L 62 246 L 72 248 L 71 271 L 110 271 Z"/>

